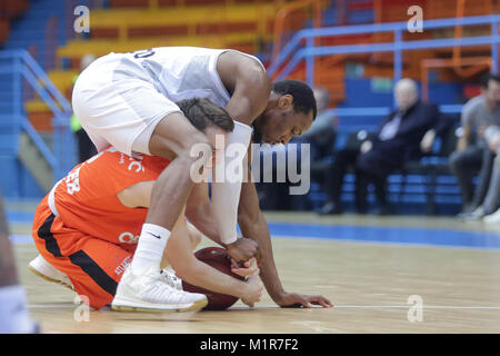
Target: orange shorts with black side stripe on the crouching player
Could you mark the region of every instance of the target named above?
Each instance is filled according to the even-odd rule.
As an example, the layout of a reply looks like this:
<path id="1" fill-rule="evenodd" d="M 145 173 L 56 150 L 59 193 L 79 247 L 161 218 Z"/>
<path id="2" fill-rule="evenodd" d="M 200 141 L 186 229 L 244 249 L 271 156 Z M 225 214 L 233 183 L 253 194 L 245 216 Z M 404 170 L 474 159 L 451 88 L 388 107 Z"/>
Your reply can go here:
<path id="1" fill-rule="evenodd" d="M 82 300 L 89 300 L 96 309 L 113 300 L 137 247 L 137 244 L 112 244 L 68 228 L 52 214 L 47 197 L 34 214 L 32 237 L 43 258 L 68 275 Z"/>

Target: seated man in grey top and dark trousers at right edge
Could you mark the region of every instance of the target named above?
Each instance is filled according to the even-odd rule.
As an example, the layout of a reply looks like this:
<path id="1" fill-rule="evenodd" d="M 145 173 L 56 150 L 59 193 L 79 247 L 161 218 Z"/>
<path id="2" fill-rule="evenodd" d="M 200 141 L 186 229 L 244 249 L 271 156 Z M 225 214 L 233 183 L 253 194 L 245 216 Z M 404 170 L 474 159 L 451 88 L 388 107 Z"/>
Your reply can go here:
<path id="1" fill-rule="evenodd" d="M 481 91 L 480 96 L 470 99 L 463 107 L 462 136 L 457 150 L 450 156 L 450 169 L 457 176 L 462 194 L 462 212 L 459 217 L 466 219 L 483 215 L 478 207 L 484 200 L 496 154 L 477 132 L 480 127 L 500 125 L 500 77 L 486 77 L 481 82 Z M 474 190 L 472 178 L 478 172 L 479 181 Z"/>

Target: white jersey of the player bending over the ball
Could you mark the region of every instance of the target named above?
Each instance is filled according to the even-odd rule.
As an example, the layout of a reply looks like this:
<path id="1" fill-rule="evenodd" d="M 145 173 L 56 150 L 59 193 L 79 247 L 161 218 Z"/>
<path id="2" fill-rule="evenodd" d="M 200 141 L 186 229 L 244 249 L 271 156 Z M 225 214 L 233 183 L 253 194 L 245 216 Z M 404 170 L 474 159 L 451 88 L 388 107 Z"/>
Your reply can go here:
<path id="1" fill-rule="evenodd" d="M 197 47 L 159 47 L 117 53 L 116 59 L 120 59 L 120 65 L 116 67 L 113 77 L 137 76 L 149 79 L 160 93 L 174 102 L 207 98 L 224 108 L 230 95 L 217 72 L 217 60 L 224 51 L 227 50 Z M 258 60 L 253 56 L 246 56 Z"/>

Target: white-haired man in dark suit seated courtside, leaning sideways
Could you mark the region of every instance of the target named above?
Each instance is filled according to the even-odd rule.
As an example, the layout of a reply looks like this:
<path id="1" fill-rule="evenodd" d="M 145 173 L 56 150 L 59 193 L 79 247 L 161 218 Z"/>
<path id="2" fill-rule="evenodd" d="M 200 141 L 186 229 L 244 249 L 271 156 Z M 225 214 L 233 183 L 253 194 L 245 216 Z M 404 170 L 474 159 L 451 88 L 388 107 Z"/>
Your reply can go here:
<path id="1" fill-rule="evenodd" d="M 434 105 L 419 100 L 413 80 L 398 81 L 394 96 L 398 109 L 382 121 L 373 138 L 363 141 L 360 148 L 346 148 L 336 154 L 327 176 L 329 199 L 320 214 L 342 212 L 340 194 L 349 167 L 354 168 L 356 174 L 356 210 L 367 211 L 367 188 L 373 182 L 380 214 L 389 212 L 384 189 L 387 177 L 407 161 L 420 159 L 430 151 L 434 138 L 451 125 Z"/>

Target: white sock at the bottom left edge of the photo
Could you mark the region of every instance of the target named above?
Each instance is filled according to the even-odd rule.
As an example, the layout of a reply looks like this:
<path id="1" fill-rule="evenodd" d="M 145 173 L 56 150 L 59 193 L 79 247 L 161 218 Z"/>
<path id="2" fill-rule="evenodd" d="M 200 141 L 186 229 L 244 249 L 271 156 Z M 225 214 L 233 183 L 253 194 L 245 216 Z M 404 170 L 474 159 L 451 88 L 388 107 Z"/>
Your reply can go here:
<path id="1" fill-rule="evenodd" d="M 28 313 L 24 288 L 0 287 L 0 334 L 29 334 L 37 329 Z"/>

